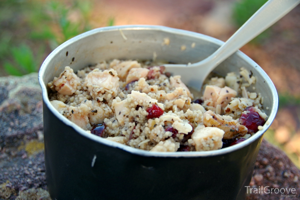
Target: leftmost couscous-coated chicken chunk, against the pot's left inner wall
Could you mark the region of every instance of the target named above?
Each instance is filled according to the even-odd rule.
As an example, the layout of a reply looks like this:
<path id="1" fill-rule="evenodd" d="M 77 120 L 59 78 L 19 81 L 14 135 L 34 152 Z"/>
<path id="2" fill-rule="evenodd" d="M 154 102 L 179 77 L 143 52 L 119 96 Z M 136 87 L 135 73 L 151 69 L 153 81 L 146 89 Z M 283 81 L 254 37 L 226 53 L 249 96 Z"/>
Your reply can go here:
<path id="1" fill-rule="evenodd" d="M 60 94 L 72 95 L 77 90 L 77 86 L 80 85 L 80 78 L 73 69 L 67 66 L 58 78 L 54 77 L 53 85 Z"/>

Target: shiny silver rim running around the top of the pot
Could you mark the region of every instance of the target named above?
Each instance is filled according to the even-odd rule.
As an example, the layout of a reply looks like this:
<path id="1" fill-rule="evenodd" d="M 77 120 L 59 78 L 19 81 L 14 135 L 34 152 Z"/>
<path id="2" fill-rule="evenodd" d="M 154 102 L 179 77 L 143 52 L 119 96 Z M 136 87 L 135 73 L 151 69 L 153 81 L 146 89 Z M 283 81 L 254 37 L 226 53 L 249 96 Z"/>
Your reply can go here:
<path id="1" fill-rule="evenodd" d="M 157 30 L 157 31 L 164 31 L 167 33 L 172 33 L 172 34 L 181 34 L 189 37 L 194 37 L 194 38 L 201 38 L 202 40 L 206 40 L 208 42 L 217 44 L 217 45 L 222 45 L 224 42 L 221 40 L 218 40 L 214 37 L 210 37 L 204 34 L 192 32 L 192 31 L 186 31 L 186 30 L 181 30 L 181 29 L 176 29 L 176 28 L 169 28 L 166 26 L 158 26 L 158 25 L 119 25 L 119 26 L 110 26 L 110 27 L 102 27 L 102 28 L 95 28 L 91 31 L 87 31 L 85 33 L 79 34 L 76 37 L 71 38 L 70 40 L 67 40 L 66 42 L 62 43 L 60 46 L 58 46 L 56 49 L 54 49 L 45 59 L 43 64 L 41 65 L 41 68 L 39 70 L 38 74 L 38 79 L 39 83 L 42 88 L 42 96 L 43 96 L 43 101 L 48 107 L 48 109 L 59 119 L 61 120 L 64 124 L 67 126 L 73 127 L 74 130 L 76 130 L 77 133 L 81 134 L 82 136 L 89 138 L 95 142 L 99 142 L 100 144 L 104 144 L 110 147 L 114 148 L 119 148 L 124 151 L 127 151 L 131 154 L 136 154 L 139 156 L 144 156 L 144 157 L 210 157 L 210 156 L 220 156 L 223 154 L 228 154 L 232 151 L 237 151 L 238 149 L 244 148 L 247 145 L 250 145 L 253 141 L 256 139 L 259 139 L 260 136 L 263 135 L 263 133 L 270 127 L 271 123 L 273 122 L 277 109 L 278 109 L 278 94 L 276 91 L 276 88 L 269 78 L 269 76 L 265 73 L 265 71 L 256 63 L 254 62 L 251 58 L 249 58 L 247 55 L 245 55 L 243 52 L 238 50 L 236 53 L 239 57 L 243 58 L 245 61 L 250 63 L 252 66 L 257 66 L 256 70 L 262 74 L 265 79 L 266 83 L 269 85 L 271 91 L 272 91 L 272 97 L 273 97 L 273 102 L 272 102 L 272 109 L 270 111 L 270 115 L 268 116 L 268 120 L 266 123 L 263 125 L 263 129 L 257 131 L 253 136 L 248 138 L 247 140 L 238 143 L 233 146 L 229 146 L 223 149 L 218 149 L 218 150 L 212 150 L 212 151 L 189 151 L 189 152 L 151 152 L 151 151 L 146 151 L 146 150 L 141 150 L 137 148 L 133 148 L 127 145 L 123 145 L 117 142 L 109 141 L 104 138 L 101 138 L 99 136 L 87 133 L 85 130 L 83 130 L 81 127 L 77 126 L 75 123 L 72 121 L 68 120 L 65 118 L 63 115 L 61 115 L 50 103 L 50 100 L 48 98 L 48 91 L 46 88 L 46 83 L 43 81 L 43 77 L 46 71 L 46 68 L 50 61 L 54 58 L 54 56 L 59 53 L 65 46 L 68 46 L 72 43 L 77 42 L 78 40 L 88 37 L 90 35 L 99 33 L 99 32 L 104 32 L 104 31 L 116 31 L 116 30 Z"/>

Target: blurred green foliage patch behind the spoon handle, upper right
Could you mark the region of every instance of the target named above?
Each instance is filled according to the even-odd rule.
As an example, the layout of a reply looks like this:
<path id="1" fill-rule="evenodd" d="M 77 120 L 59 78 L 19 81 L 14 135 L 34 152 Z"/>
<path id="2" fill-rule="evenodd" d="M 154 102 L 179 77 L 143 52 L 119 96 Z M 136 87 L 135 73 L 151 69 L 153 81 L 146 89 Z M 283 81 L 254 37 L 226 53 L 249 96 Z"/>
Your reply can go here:
<path id="1" fill-rule="evenodd" d="M 233 7 L 233 20 L 238 27 L 241 27 L 267 0 L 240 0 L 234 4 Z M 251 43 L 261 43 L 265 38 L 269 37 L 270 30 L 267 29 Z"/>

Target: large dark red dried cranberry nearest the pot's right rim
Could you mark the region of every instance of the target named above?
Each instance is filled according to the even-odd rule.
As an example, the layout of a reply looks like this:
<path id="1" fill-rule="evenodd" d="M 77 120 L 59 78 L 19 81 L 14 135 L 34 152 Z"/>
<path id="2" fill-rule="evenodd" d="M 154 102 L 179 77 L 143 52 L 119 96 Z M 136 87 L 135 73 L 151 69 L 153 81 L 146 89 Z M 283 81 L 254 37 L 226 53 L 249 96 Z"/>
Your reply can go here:
<path id="1" fill-rule="evenodd" d="M 239 122 L 247 127 L 249 133 L 256 133 L 258 126 L 265 124 L 265 120 L 256 112 L 253 106 L 245 108 L 246 111 L 250 111 L 247 114 L 242 114 L 239 118 Z"/>

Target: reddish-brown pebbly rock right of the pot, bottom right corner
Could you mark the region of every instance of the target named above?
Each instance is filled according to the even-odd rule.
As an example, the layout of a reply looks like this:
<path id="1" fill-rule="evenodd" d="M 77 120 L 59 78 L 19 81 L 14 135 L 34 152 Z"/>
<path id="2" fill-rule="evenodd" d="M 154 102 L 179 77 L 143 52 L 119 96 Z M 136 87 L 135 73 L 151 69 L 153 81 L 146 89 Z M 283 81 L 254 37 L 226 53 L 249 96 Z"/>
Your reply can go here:
<path id="1" fill-rule="evenodd" d="M 271 188 L 295 188 L 295 197 L 288 199 L 300 198 L 300 170 L 292 163 L 286 154 L 280 149 L 274 147 L 265 140 L 262 140 L 261 147 L 255 162 L 255 168 L 250 182 L 250 188 L 253 188 L 252 193 L 248 189 L 247 200 L 275 200 L 281 198 L 281 193 L 271 194 L 257 193 L 254 194 L 254 188 L 261 189 L 261 186 L 267 190 Z M 273 190 L 274 190 L 273 189 Z M 283 191 L 283 190 L 282 190 Z M 285 194 L 288 194 L 285 192 Z M 289 192 L 291 194 L 291 192 Z"/>

